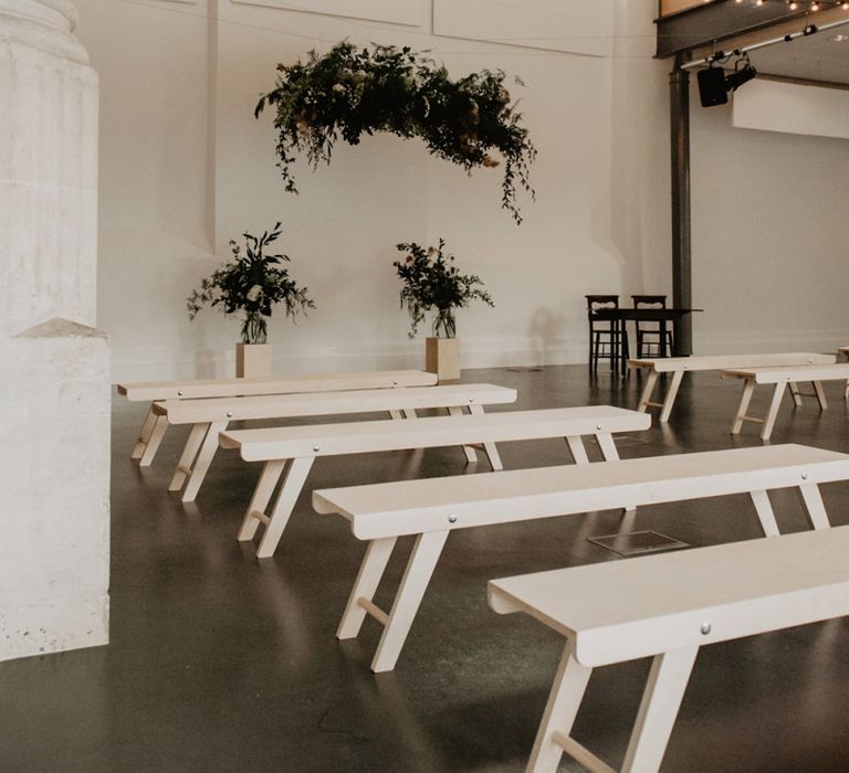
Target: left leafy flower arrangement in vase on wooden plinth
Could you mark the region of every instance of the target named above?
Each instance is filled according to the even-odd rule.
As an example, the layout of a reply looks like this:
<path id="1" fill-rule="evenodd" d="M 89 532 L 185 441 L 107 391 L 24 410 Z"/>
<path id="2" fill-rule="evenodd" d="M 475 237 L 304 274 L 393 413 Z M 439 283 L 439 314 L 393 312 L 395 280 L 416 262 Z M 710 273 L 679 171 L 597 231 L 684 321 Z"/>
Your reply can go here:
<path id="1" fill-rule="evenodd" d="M 218 306 L 226 315 L 243 315 L 241 332 L 244 343 L 265 343 L 266 318 L 271 317 L 274 306 L 284 304 L 286 316 L 293 319 L 300 313 L 306 314 L 306 309 L 315 308 L 307 288 L 298 287 L 290 278 L 289 268 L 281 267 L 281 261 L 289 261 L 289 256 L 263 253 L 280 236 L 280 225 L 276 223 L 271 233 L 265 231 L 262 236 L 243 233 L 244 252 L 239 244 L 230 242 L 232 258 L 212 276 L 202 279 L 200 289 L 193 290 L 186 299 L 189 319 L 195 319 L 205 304 Z"/>

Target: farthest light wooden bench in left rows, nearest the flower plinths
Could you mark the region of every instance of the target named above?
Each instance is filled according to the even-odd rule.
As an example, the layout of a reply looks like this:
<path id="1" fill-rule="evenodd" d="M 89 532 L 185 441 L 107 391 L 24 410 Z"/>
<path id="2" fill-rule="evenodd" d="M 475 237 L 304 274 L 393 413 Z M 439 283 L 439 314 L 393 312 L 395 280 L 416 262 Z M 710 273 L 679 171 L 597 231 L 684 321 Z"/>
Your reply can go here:
<path id="1" fill-rule="evenodd" d="M 337 392 L 348 389 L 391 389 L 396 386 L 432 386 L 436 373 L 422 370 L 377 370 L 363 373 L 316 373 L 290 375 L 282 379 L 208 379 L 195 381 L 146 381 L 118 384 L 118 394 L 133 402 L 154 403 L 157 400 L 192 400 L 201 398 L 234 398 L 256 394 L 291 394 L 294 392 Z M 153 405 L 145 415 L 138 440 L 129 457 L 147 467 L 156 456 L 168 422 L 157 421 Z"/>

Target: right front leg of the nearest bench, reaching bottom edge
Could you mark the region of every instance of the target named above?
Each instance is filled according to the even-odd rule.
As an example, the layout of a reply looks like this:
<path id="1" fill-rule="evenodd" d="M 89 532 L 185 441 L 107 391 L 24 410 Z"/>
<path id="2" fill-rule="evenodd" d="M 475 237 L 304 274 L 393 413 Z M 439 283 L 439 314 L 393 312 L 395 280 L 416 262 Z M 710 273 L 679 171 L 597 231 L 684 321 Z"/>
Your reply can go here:
<path id="1" fill-rule="evenodd" d="M 698 652 L 685 647 L 654 656 L 622 773 L 660 769 Z"/>

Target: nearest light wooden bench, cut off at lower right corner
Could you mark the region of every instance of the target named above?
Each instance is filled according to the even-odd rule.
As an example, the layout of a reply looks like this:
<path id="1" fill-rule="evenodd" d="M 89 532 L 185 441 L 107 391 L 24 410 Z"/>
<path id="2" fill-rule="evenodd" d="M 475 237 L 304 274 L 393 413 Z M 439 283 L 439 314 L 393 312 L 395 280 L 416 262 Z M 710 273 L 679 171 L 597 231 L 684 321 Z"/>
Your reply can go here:
<path id="1" fill-rule="evenodd" d="M 587 681 L 652 657 L 621 770 L 657 771 L 699 647 L 849 614 L 847 555 L 841 526 L 492 580 L 495 612 L 525 612 L 568 639 L 526 770 L 554 773 L 565 752 L 612 771 L 569 734 Z"/>

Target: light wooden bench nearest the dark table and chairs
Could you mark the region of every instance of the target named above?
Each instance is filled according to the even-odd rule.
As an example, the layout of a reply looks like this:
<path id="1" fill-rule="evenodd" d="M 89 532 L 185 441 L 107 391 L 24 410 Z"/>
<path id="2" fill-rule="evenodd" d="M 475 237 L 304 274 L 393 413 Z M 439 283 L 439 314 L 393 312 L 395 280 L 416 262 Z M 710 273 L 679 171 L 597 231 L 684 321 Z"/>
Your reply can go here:
<path id="1" fill-rule="evenodd" d="M 678 396 L 678 389 L 684 373 L 696 370 L 731 370 L 734 368 L 761 368 L 769 366 L 803 366 L 828 364 L 835 362 L 835 354 L 815 354 L 811 352 L 792 352 L 780 354 L 704 354 L 693 357 L 662 357 L 628 360 L 628 367 L 648 370 L 648 378 L 642 388 L 638 411 L 647 411 L 649 406 L 660 407 L 660 421 L 668 422 L 669 414 Z M 661 373 L 672 373 L 663 402 L 651 402 L 651 393 Z"/>

